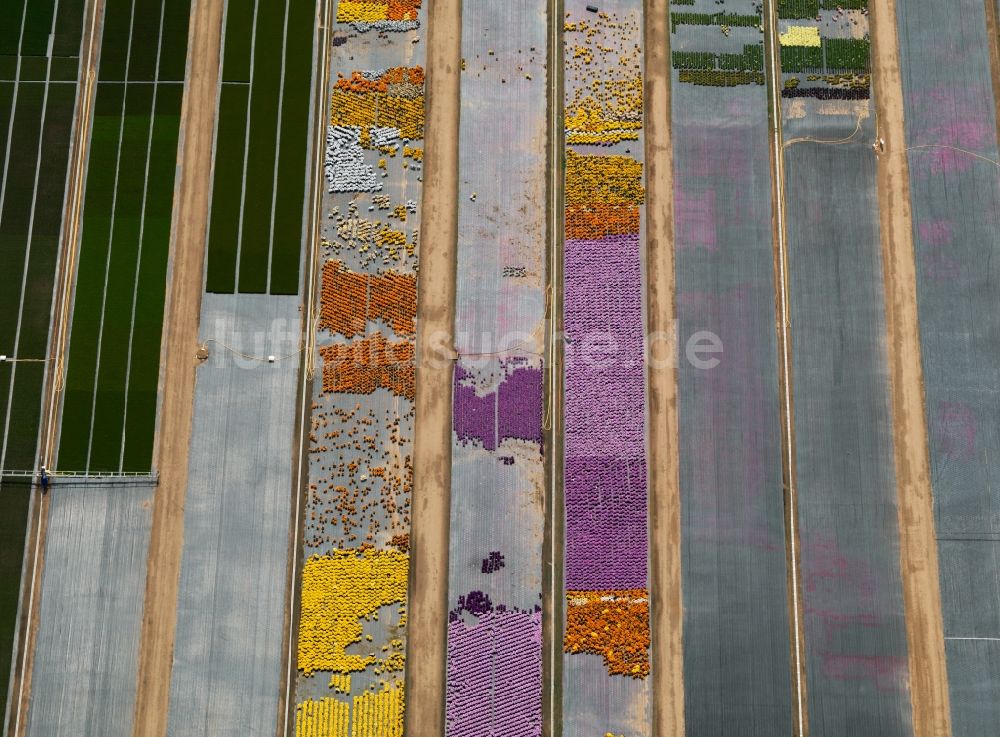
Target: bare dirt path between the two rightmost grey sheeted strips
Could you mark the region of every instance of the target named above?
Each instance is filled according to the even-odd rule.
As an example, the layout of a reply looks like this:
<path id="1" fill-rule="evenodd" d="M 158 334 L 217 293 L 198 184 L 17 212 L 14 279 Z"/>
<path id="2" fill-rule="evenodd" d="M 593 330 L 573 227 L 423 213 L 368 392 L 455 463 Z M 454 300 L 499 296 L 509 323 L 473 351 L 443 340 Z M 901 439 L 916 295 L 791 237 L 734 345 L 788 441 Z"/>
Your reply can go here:
<path id="1" fill-rule="evenodd" d="M 924 413 L 896 0 L 873 0 L 870 20 L 878 135 L 885 139 L 878 164 L 878 201 L 913 734 L 948 737 L 951 708 Z"/>

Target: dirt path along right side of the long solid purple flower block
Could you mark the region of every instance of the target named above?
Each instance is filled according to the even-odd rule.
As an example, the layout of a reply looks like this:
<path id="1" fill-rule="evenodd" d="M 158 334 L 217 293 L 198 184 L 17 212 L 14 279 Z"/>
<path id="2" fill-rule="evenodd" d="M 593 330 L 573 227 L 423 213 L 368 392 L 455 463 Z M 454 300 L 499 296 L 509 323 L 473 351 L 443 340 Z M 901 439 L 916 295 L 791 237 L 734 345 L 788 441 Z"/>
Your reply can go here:
<path id="1" fill-rule="evenodd" d="M 650 634 L 653 735 L 684 735 L 684 608 L 674 301 L 669 0 L 646 0 L 646 280 L 649 380 Z M 670 336 L 670 339 L 666 339 Z"/>

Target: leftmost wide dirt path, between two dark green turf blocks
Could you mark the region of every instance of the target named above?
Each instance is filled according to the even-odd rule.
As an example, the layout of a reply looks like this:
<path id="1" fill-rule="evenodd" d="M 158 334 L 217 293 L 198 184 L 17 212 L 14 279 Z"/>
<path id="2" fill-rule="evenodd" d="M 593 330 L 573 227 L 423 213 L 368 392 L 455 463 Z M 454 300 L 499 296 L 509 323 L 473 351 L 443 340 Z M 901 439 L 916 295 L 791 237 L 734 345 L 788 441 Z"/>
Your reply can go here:
<path id="1" fill-rule="evenodd" d="M 163 340 L 153 531 L 139 641 L 135 737 L 164 737 L 173 665 L 177 589 L 184 546 L 184 497 L 194 411 L 195 351 L 211 192 L 219 49 L 219 0 L 196 0 L 191 12 L 188 70 L 181 111 L 180 178 L 174 197 L 170 284 Z"/>

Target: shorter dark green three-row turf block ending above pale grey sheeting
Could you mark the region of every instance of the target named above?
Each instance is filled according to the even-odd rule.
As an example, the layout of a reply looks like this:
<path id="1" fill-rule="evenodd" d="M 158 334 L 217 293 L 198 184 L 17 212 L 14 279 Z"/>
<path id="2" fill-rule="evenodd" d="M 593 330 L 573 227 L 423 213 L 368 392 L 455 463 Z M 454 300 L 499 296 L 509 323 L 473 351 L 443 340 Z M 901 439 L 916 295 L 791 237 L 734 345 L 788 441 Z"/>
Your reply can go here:
<path id="1" fill-rule="evenodd" d="M 205 288 L 297 294 L 314 0 L 230 0 Z"/>

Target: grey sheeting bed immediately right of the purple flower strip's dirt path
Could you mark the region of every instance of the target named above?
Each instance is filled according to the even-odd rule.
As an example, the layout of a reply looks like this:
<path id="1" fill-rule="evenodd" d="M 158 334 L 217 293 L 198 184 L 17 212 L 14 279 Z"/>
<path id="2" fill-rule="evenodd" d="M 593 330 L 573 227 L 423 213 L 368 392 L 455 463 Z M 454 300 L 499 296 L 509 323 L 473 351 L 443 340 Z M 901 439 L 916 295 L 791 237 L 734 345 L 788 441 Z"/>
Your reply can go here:
<path id="1" fill-rule="evenodd" d="M 749 1 L 725 10 L 754 12 Z M 678 26 L 671 49 L 740 53 L 762 38 L 702 30 Z M 681 84 L 674 70 L 671 103 L 685 725 L 791 734 L 766 89 Z M 686 357 L 699 331 L 721 341 L 721 354 L 702 354 L 714 368 Z"/>

